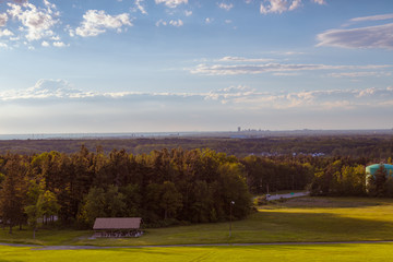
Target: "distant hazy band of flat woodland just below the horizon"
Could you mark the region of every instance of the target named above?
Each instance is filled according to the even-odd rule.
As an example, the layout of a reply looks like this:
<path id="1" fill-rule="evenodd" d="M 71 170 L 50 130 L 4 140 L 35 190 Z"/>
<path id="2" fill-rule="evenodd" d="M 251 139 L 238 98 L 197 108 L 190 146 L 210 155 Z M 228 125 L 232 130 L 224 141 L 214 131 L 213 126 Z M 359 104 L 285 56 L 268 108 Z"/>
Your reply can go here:
<path id="1" fill-rule="evenodd" d="M 282 156 L 291 154 L 367 157 L 386 159 L 393 155 L 393 136 L 368 135 L 298 135 L 267 138 L 145 138 L 102 140 L 13 140 L 0 141 L 0 152 L 40 154 L 49 151 L 72 154 L 84 144 L 90 151 L 102 146 L 105 154 L 112 148 L 124 148 L 129 154 L 148 154 L 153 150 L 212 148 L 227 155 Z"/>

